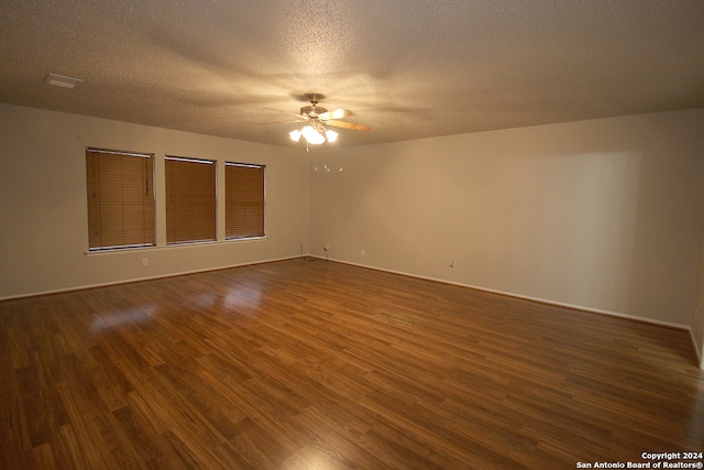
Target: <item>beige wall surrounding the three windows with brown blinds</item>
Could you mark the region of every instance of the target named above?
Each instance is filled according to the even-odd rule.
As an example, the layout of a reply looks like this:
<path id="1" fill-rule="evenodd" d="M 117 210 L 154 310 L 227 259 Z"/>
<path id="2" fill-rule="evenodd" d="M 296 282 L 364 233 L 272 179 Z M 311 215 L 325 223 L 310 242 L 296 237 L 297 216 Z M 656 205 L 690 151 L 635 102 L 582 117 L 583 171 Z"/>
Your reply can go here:
<path id="1" fill-rule="evenodd" d="M 161 247 L 86 254 L 86 146 L 156 154 Z M 226 160 L 265 164 L 268 238 L 164 247 L 164 154 L 217 160 L 220 175 Z M 0 298 L 298 256 L 301 245 L 308 250 L 309 172 L 298 151 L 0 105 Z M 218 209 L 222 220 L 224 208 Z M 220 240 L 223 233 L 220 225 Z"/>

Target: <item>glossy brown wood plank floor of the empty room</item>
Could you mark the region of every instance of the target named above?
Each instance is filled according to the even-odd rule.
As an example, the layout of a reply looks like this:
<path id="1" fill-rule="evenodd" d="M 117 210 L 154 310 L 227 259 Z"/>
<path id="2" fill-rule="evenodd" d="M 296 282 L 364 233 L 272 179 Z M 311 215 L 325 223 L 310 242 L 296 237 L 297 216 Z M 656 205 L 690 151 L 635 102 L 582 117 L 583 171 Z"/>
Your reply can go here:
<path id="1" fill-rule="evenodd" d="M 321 260 L 7 300 L 0 334 L 3 469 L 704 451 L 686 331 Z"/>

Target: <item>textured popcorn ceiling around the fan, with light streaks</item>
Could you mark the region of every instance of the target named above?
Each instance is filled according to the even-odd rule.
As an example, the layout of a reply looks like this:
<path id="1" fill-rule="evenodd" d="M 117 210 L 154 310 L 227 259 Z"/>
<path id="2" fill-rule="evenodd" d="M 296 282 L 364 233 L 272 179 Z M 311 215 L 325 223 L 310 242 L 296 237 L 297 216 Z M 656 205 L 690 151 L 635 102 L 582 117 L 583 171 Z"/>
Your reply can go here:
<path id="1" fill-rule="evenodd" d="M 702 108 L 704 1 L 0 2 L 0 102 L 294 146 L 310 91 L 336 145 Z"/>

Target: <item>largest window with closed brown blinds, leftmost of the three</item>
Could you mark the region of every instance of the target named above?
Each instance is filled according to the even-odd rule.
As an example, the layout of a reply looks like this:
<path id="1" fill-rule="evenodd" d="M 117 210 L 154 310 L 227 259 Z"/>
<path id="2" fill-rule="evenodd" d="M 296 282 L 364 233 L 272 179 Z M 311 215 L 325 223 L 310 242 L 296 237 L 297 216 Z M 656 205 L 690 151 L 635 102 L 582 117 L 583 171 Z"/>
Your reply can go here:
<path id="1" fill-rule="evenodd" d="M 86 149 L 90 251 L 154 245 L 153 156 Z"/>

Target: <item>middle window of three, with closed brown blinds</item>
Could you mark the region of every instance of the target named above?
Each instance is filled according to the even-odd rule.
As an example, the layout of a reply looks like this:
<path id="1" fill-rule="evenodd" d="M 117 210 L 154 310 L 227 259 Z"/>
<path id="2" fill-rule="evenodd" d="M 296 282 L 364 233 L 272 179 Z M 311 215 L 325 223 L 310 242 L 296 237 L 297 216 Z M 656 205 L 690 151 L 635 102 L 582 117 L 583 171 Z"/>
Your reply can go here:
<path id="1" fill-rule="evenodd" d="M 216 164 L 166 156 L 166 243 L 215 241 Z"/>

